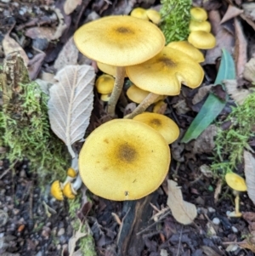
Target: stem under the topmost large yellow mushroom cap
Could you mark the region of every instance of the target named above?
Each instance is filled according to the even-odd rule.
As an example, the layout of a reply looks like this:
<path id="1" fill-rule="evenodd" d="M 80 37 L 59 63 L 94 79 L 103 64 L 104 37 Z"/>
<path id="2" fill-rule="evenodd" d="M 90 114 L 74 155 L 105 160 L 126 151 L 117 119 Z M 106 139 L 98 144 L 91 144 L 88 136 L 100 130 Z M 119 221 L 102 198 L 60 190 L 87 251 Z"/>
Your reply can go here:
<path id="1" fill-rule="evenodd" d="M 116 78 L 115 78 L 114 88 L 111 93 L 110 100 L 108 101 L 108 110 L 107 110 L 108 114 L 111 117 L 114 117 L 115 115 L 116 103 L 119 100 L 120 95 L 122 93 L 125 73 L 126 73 L 126 70 L 124 66 L 116 67 Z"/>

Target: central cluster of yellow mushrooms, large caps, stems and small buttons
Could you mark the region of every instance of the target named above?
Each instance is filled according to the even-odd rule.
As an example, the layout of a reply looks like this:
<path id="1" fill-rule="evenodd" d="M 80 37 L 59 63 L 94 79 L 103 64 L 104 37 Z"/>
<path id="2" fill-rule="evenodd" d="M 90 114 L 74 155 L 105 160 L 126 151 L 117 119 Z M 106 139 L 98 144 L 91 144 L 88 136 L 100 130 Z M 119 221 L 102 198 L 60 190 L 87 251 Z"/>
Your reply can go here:
<path id="1" fill-rule="evenodd" d="M 200 86 L 203 55 L 188 42 L 165 46 L 163 33 L 150 22 L 160 18 L 156 21 L 150 12 L 146 15 L 145 20 L 127 15 L 104 17 L 75 32 L 77 48 L 105 72 L 95 87 L 101 100 L 108 102 L 108 114 L 115 117 L 125 77 L 133 83 L 127 96 L 139 105 L 88 136 L 65 182 L 57 180 L 51 187 L 58 200 L 75 198 L 82 182 L 106 199 L 135 200 L 155 191 L 167 176 L 168 144 L 178 139 L 178 126 L 169 117 L 144 111 L 168 95 L 178 95 L 181 84 Z"/>

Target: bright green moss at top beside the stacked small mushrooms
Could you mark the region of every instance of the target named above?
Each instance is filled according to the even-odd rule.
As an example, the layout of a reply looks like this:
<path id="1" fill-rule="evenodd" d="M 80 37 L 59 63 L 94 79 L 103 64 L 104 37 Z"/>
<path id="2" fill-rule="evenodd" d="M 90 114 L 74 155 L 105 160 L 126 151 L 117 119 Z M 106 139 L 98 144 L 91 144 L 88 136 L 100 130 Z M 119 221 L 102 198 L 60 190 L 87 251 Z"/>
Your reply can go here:
<path id="1" fill-rule="evenodd" d="M 161 0 L 161 31 L 167 43 L 183 41 L 189 36 L 191 0 Z"/>

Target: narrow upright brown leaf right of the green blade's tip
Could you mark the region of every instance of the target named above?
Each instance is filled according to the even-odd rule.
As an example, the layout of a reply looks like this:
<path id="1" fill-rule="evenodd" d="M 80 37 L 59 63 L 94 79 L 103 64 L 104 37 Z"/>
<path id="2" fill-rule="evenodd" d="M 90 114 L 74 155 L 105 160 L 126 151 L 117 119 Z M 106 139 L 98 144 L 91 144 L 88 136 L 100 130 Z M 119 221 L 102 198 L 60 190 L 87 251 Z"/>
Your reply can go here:
<path id="1" fill-rule="evenodd" d="M 241 22 L 235 18 L 235 67 L 236 76 L 241 77 L 247 62 L 247 41 Z"/>

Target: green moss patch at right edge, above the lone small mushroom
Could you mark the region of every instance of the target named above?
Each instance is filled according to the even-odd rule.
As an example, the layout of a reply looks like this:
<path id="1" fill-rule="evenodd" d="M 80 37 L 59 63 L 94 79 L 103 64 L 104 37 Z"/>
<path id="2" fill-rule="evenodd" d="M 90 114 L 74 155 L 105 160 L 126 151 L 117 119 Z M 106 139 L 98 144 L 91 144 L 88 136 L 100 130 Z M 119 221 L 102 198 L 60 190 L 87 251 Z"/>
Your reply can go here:
<path id="1" fill-rule="evenodd" d="M 235 171 L 242 162 L 245 148 L 249 148 L 248 139 L 254 135 L 255 124 L 255 93 L 250 94 L 243 105 L 234 107 L 229 117 L 224 121 L 231 122 L 229 129 L 219 129 L 215 139 L 215 156 L 212 160 L 212 171 L 216 174 L 226 174 Z M 218 126 L 222 123 L 219 122 Z"/>

